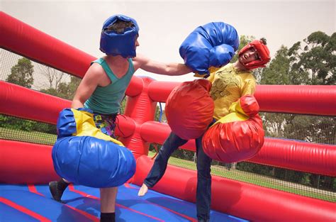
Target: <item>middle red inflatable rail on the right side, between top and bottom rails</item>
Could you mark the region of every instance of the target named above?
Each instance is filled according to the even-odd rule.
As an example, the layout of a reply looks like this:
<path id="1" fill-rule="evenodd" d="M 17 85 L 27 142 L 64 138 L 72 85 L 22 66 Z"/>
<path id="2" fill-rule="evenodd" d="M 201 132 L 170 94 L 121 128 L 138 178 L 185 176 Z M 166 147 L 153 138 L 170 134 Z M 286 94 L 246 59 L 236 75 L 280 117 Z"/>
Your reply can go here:
<path id="1" fill-rule="evenodd" d="M 141 137 L 148 143 L 162 144 L 169 133 L 166 123 L 149 121 L 141 126 Z M 194 140 L 189 140 L 182 148 L 195 152 Z M 247 161 L 335 177 L 336 145 L 265 138 L 258 154 Z"/>

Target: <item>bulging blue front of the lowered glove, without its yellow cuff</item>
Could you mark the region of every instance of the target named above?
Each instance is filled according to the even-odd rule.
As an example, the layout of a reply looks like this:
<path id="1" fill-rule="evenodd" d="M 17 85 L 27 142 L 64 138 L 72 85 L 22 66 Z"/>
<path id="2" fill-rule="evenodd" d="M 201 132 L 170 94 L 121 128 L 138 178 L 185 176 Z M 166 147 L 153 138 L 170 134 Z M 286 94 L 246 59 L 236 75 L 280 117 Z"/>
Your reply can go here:
<path id="1" fill-rule="evenodd" d="M 58 139 L 52 160 L 60 177 L 87 187 L 118 187 L 135 173 L 128 148 L 91 136 Z"/>

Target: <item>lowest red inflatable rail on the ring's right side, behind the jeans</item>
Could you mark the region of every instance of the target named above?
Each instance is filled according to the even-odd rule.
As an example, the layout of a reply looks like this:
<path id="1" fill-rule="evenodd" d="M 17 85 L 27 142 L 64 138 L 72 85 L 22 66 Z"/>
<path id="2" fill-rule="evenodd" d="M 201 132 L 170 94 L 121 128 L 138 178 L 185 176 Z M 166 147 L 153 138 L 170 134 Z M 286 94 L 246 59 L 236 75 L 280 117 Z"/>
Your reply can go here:
<path id="1" fill-rule="evenodd" d="M 153 160 L 138 157 L 133 184 L 141 185 Z M 177 175 L 179 175 L 177 177 Z M 153 187 L 157 192 L 195 201 L 196 171 L 169 165 L 164 177 Z M 212 209 L 251 221 L 335 221 L 335 204 L 237 182 L 222 177 L 212 179 Z"/>

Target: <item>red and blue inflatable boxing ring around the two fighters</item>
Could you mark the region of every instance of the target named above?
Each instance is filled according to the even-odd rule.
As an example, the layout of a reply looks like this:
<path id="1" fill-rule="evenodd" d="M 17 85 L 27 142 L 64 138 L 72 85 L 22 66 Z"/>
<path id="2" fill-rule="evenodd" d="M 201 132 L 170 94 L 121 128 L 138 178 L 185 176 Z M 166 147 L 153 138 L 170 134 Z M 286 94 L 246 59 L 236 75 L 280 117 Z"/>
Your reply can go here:
<path id="1" fill-rule="evenodd" d="M 1 50 L 10 51 L 76 77 L 95 57 L 0 13 Z M 169 165 L 147 195 L 138 189 L 153 160 L 150 143 L 162 144 L 166 123 L 154 121 L 157 102 L 165 102 L 178 82 L 133 77 L 117 134 L 137 160 L 136 172 L 118 189 L 117 221 L 197 221 L 196 171 Z M 257 86 L 261 111 L 336 116 L 335 86 Z M 55 124 L 71 101 L 0 81 L 0 113 Z M 189 141 L 182 149 L 195 151 Z M 69 186 L 54 201 L 47 183 L 60 179 L 52 167 L 52 145 L 0 139 L 0 221 L 99 221 L 99 189 Z M 265 138 L 249 162 L 290 170 L 336 175 L 336 145 Z M 335 193 L 333 193 L 335 198 Z M 335 199 L 325 201 L 277 189 L 213 176 L 211 221 L 336 221 Z"/>

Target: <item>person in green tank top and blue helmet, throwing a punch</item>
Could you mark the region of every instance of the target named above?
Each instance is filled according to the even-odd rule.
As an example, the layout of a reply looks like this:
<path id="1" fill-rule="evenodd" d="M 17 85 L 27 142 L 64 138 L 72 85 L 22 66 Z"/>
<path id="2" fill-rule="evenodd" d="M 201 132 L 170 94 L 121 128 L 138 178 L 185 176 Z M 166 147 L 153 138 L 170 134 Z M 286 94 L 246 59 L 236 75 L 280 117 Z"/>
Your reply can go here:
<path id="1" fill-rule="evenodd" d="M 118 42 L 121 39 L 123 43 Z M 138 24 L 133 18 L 123 15 L 108 18 L 101 33 L 101 51 L 106 52 L 106 56 L 91 63 L 72 100 L 73 109 L 86 107 L 94 111 L 97 127 L 105 128 L 109 125 L 108 130 L 103 131 L 108 135 L 113 134 L 111 132 L 114 131 L 115 123 L 103 121 L 99 116 L 110 116 L 112 120 L 115 119 L 113 116 L 118 113 L 125 90 L 136 70 L 142 69 L 170 76 L 192 72 L 189 67 L 181 63 L 162 63 L 143 55 L 135 56 L 135 50 L 139 45 Z M 61 201 L 69 183 L 65 179 L 50 182 L 52 197 Z M 118 187 L 100 189 L 101 222 L 116 221 L 117 191 Z"/>

